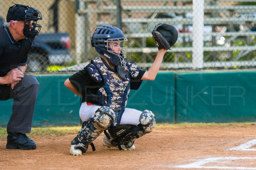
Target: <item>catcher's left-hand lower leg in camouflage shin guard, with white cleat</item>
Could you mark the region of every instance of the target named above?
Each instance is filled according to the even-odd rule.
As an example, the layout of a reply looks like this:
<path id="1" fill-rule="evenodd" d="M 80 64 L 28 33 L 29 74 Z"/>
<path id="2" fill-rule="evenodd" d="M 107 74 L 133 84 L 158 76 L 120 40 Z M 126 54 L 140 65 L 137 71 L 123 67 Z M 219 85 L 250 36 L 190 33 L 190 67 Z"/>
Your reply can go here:
<path id="1" fill-rule="evenodd" d="M 114 120 L 115 113 L 110 107 L 100 107 L 91 119 L 83 122 L 77 137 L 71 142 L 70 154 L 82 155 L 82 153 L 87 151 L 88 145 L 91 145 L 94 151 L 95 147 L 92 141 L 95 140 L 103 130 L 108 129 Z"/>

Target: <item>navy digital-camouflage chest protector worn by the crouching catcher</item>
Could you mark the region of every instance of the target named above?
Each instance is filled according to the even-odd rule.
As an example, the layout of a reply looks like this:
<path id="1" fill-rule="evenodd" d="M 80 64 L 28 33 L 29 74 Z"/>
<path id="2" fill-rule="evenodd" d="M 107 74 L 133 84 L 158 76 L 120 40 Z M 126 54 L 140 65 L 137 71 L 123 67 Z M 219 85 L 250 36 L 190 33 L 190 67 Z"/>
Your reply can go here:
<path id="1" fill-rule="evenodd" d="M 96 94 L 101 98 L 103 97 L 104 101 L 98 100 L 98 102 L 102 106 L 110 107 L 115 112 L 112 126 L 118 126 L 130 93 L 130 77 L 136 78 L 138 76 L 138 66 L 132 62 L 126 63 L 125 78 L 121 79 L 117 72 L 110 71 L 102 59 L 97 57 L 87 66 L 87 70 L 94 81 L 104 81 Z"/>

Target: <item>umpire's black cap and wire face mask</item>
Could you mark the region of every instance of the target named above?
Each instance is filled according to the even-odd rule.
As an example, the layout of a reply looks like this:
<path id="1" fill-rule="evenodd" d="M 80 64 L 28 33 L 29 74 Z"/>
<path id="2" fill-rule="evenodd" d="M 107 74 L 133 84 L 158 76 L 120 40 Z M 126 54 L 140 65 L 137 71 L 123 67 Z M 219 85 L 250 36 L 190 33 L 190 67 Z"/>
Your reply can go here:
<path id="1" fill-rule="evenodd" d="M 29 38 L 33 44 L 35 44 L 34 39 L 41 30 L 41 25 L 36 23 L 38 20 L 42 20 L 41 13 L 35 8 L 15 4 L 9 8 L 6 16 L 7 22 L 10 22 L 11 20 L 25 21 L 23 34 L 26 38 Z"/>

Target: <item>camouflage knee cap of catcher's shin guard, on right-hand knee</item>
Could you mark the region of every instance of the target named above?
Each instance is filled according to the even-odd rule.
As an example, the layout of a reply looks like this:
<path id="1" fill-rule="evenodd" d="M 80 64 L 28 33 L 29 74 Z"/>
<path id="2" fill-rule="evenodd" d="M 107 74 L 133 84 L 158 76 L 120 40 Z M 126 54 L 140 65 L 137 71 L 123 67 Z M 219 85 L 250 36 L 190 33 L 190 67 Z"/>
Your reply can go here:
<path id="1" fill-rule="evenodd" d="M 144 110 L 140 116 L 140 123 L 143 125 L 144 133 L 150 133 L 156 125 L 155 115 L 152 111 Z"/>

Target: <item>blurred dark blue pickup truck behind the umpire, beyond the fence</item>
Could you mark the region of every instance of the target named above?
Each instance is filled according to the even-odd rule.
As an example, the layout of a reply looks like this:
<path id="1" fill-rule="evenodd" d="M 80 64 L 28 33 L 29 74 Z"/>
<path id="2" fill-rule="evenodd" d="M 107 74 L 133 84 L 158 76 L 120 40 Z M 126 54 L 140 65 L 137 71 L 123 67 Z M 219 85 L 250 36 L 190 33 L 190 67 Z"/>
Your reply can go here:
<path id="1" fill-rule="evenodd" d="M 0 17 L 0 25 L 5 20 Z M 67 33 L 39 33 L 28 53 L 29 72 L 46 71 L 49 65 L 64 65 L 72 62 L 69 55 L 70 37 Z"/>

